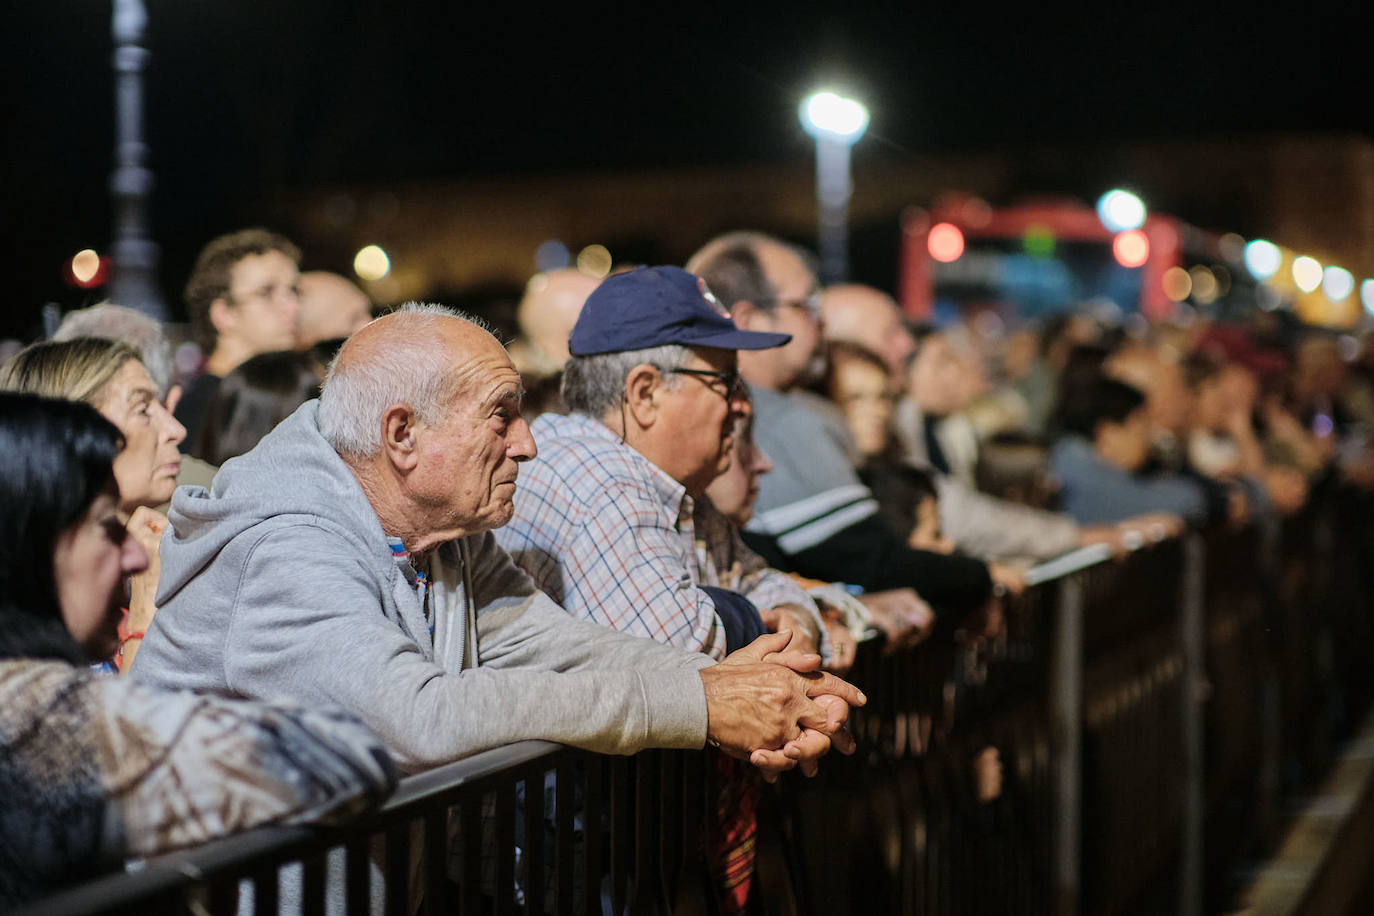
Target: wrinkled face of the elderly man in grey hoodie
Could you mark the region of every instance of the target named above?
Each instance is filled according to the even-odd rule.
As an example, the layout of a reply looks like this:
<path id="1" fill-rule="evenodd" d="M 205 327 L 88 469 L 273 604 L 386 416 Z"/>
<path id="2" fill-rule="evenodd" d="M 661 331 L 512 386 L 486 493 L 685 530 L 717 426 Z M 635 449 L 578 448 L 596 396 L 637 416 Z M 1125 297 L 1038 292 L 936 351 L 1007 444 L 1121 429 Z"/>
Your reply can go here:
<path id="1" fill-rule="evenodd" d="M 444 419 L 419 424 L 412 497 L 426 507 L 431 531 L 474 534 L 511 520 L 519 463 L 537 450 L 521 416 L 519 374 L 502 345 L 458 319 L 441 334 L 455 338 L 453 363 L 463 371 Z"/>

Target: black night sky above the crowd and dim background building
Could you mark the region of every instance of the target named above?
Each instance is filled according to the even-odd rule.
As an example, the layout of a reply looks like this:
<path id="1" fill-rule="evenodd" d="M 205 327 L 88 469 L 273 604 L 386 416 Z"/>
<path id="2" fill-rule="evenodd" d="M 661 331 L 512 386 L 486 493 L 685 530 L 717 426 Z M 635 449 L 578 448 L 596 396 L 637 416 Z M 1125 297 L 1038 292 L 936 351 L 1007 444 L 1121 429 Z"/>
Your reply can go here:
<path id="1" fill-rule="evenodd" d="M 1022 4 L 747 8 L 147 0 L 154 232 L 176 304 L 210 236 L 279 191 L 811 155 L 797 100 L 863 98 L 872 155 L 1272 130 L 1374 135 L 1374 11 L 1079 16 Z M 646 4 L 647 5 L 647 4 Z M 739 4 L 745 7 L 745 4 Z M 1109 4 L 1102 4 L 1107 7 Z M 1131 4 L 1110 4 L 1131 5 Z M 110 7 L 10 4 L 0 38 L 0 336 L 30 338 L 107 249 Z M 179 308 L 179 304 L 177 304 Z"/>

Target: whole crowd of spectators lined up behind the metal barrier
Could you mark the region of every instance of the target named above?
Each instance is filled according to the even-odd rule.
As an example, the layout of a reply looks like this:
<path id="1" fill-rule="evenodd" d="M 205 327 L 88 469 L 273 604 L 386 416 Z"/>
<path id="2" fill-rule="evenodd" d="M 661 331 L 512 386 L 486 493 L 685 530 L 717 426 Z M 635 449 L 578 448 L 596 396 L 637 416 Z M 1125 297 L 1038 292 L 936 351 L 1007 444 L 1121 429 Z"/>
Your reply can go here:
<path id="1" fill-rule="evenodd" d="M 732 232 L 534 276 L 507 347 L 301 260 L 205 247 L 185 385 L 117 304 L 0 364 L 0 905 L 547 739 L 708 747 L 743 912 L 761 783 L 853 750 L 857 641 L 1374 486 L 1374 350 L 1265 314 L 915 325 Z"/>

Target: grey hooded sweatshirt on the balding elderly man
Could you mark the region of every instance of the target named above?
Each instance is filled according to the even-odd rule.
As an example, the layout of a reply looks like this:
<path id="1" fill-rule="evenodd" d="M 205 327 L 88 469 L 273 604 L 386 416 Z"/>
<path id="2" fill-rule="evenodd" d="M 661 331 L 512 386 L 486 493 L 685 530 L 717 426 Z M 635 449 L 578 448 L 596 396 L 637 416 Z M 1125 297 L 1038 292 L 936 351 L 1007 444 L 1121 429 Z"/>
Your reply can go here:
<path id="1" fill-rule="evenodd" d="M 459 612 L 436 652 L 317 407 L 209 492 L 177 490 L 135 677 L 342 706 L 408 772 L 523 739 L 611 754 L 705 743 L 709 658 L 573 619 L 489 531 L 438 549 L 436 586 Z"/>

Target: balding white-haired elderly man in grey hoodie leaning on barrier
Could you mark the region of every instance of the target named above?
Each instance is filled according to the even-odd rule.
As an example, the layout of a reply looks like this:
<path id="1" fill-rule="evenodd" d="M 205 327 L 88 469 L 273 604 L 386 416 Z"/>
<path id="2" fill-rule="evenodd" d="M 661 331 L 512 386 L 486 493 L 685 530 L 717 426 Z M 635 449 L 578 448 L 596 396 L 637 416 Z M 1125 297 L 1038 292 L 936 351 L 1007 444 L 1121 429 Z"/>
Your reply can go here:
<path id="1" fill-rule="evenodd" d="M 333 703 L 404 770 L 522 739 L 600 753 L 708 740 L 768 775 L 852 750 L 863 695 L 761 637 L 714 665 L 562 611 L 496 545 L 534 456 L 519 376 L 474 321 L 359 331 L 319 401 L 181 489 L 135 674 Z"/>

